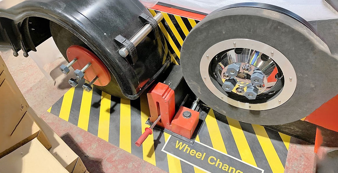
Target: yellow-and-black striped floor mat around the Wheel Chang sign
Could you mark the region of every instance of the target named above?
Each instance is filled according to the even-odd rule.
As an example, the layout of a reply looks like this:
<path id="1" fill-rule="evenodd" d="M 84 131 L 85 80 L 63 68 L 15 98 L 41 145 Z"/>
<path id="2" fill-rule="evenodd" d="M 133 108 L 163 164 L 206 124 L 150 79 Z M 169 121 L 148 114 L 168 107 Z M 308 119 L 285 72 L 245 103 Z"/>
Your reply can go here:
<path id="1" fill-rule="evenodd" d="M 169 173 L 203 171 L 161 151 L 169 134 L 154 130 L 137 147 L 135 141 L 149 127 L 146 95 L 129 100 L 111 96 L 94 88 L 71 88 L 48 112 L 134 154 Z M 222 121 L 209 112 L 197 141 L 264 169 L 264 173 L 283 173 L 290 136 L 260 125 L 239 122 L 229 117 Z"/>

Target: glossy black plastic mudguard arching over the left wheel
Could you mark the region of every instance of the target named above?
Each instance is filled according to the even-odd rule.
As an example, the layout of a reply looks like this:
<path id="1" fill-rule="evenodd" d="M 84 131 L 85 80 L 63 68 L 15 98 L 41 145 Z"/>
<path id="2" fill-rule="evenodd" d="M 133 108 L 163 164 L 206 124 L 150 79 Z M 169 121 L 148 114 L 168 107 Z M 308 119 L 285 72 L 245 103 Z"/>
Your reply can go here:
<path id="1" fill-rule="evenodd" d="M 29 51 L 36 51 L 35 47 L 51 36 L 51 21 L 51 25 L 61 26 L 59 31 L 70 33 L 69 37 L 58 37 L 65 33 L 55 35 L 64 57 L 65 46 L 87 46 L 112 76 L 110 84 L 99 88 L 114 96 L 136 99 L 170 63 L 162 33 L 156 39 L 146 37 L 136 47 L 138 61 L 133 65 L 118 54 L 114 38 L 121 34 L 129 39 L 136 34 L 144 26 L 139 20 L 141 13 L 151 16 L 138 0 L 24 1 L 0 9 L 0 45 L 12 47 L 14 55 L 21 49 L 28 56 Z M 60 46 L 62 43 L 64 46 Z"/>

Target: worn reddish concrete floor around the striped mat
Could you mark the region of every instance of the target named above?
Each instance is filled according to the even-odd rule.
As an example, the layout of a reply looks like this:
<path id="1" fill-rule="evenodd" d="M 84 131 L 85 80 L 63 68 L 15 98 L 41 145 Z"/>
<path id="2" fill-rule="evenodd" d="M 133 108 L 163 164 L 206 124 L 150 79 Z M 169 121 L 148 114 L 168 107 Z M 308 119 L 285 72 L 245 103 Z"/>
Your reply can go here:
<path id="1" fill-rule="evenodd" d="M 67 81 L 73 77 L 72 71 L 66 76 L 58 69 L 61 64 L 67 63 L 63 57 L 45 65 L 45 70 L 50 71 L 49 74 L 52 77 L 52 80 L 48 80 L 31 58 L 23 57 L 21 52 L 19 53 L 19 57 L 14 57 L 12 51 L 8 49 L 0 51 L 0 55 L 4 59 L 28 104 L 80 156 L 89 172 L 165 172 L 89 132 L 46 112 L 70 88 Z M 322 160 L 329 149 L 321 148 L 318 155 L 313 153 L 313 149 L 313 145 L 292 138 L 285 172 L 315 173 L 317 160 Z"/>

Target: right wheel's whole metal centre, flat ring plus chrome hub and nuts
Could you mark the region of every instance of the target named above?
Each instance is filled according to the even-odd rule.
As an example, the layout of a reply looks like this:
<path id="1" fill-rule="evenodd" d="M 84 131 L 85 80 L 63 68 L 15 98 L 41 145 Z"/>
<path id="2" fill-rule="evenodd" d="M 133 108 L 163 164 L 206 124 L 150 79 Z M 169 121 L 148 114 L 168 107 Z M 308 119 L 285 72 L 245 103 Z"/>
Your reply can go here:
<path id="1" fill-rule="evenodd" d="M 288 59 L 273 47 L 250 39 L 216 43 L 204 52 L 199 69 L 215 96 L 242 109 L 278 107 L 296 88 L 296 74 Z"/>

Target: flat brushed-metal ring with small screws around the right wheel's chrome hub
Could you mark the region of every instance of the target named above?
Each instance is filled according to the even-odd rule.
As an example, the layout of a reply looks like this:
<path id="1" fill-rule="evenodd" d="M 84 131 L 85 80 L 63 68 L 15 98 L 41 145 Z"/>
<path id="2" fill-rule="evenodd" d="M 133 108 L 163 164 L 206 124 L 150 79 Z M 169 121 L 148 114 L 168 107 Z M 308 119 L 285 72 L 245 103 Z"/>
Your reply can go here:
<path id="1" fill-rule="evenodd" d="M 268 55 L 281 68 L 285 79 L 284 87 L 281 89 L 279 93 L 276 94 L 276 96 L 274 96 L 265 103 L 250 104 L 232 99 L 217 89 L 217 87 L 214 85 L 214 83 L 211 81 L 210 78 L 211 76 L 211 74 L 209 74 L 210 63 L 213 57 L 215 57 L 218 53 L 234 48 L 246 48 L 262 52 L 265 55 Z M 211 46 L 203 54 L 199 67 L 201 78 L 204 84 L 214 95 L 216 95 L 219 99 L 223 100 L 225 103 L 242 109 L 259 111 L 276 108 L 287 102 L 287 100 L 291 98 L 296 89 L 297 84 L 296 72 L 290 61 L 275 48 L 255 40 L 229 39 L 218 42 L 215 45 Z"/>

